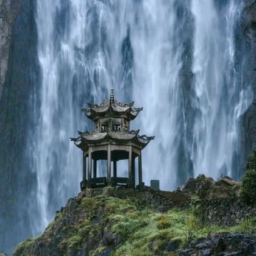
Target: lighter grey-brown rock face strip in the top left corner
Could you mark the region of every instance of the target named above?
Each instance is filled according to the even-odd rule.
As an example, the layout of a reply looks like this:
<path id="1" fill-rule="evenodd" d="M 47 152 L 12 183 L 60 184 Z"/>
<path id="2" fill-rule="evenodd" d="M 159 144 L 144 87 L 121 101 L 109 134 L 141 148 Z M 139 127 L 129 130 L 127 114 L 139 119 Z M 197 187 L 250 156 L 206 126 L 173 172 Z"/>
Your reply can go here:
<path id="1" fill-rule="evenodd" d="M 0 100 L 9 60 L 13 23 L 20 12 L 20 0 L 0 0 Z"/>

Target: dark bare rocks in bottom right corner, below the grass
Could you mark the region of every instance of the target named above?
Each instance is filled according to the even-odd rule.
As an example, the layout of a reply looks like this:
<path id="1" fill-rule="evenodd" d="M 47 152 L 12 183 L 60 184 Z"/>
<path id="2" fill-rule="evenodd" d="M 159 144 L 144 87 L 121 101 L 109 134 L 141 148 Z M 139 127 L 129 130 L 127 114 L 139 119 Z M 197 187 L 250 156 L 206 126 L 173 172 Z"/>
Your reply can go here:
<path id="1" fill-rule="evenodd" d="M 208 237 L 193 241 L 188 245 L 188 249 L 179 252 L 180 256 L 191 255 L 255 255 L 256 237 L 244 235 L 243 233 L 209 234 Z"/>

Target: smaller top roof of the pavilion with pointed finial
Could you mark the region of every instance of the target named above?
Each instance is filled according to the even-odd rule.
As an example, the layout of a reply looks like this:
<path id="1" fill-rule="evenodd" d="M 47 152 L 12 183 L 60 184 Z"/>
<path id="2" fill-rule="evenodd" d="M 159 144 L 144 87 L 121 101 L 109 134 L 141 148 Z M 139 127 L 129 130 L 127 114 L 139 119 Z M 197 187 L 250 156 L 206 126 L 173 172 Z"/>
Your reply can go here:
<path id="1" fill-rule="evenodd" d="M 85 112 L 88 118 L 94 120 L 102 116 L 119 116 L 125 115 L 127 119 L 133 120 L 136 118 L 138 113 L 143 110 L 142 107 L 133 107 L 134 102 L 122 103 L 114 99 L 113 89 L 111 90 L 110 100 L 107 99 L 101 104 L 90 104 L 88 108 L 81 108 L 82 112 Z"/>

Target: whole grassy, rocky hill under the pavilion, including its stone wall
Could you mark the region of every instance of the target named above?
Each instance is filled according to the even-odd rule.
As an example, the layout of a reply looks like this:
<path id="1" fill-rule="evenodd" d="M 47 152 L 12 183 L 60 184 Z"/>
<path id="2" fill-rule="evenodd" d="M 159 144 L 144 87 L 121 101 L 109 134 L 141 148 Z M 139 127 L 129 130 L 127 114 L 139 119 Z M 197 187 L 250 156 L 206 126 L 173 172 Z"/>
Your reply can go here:
<path id="1" fill-rule="evenodd" d="M 69 199 L 43 235 L 19 244 L 14 255 L 193 255 L 192 248 L 200 251 L 207 246 L 208 251 L 219 253 L 256 252 L 252 236 L 216 235 L 219 232 L 252 235 L 256 209 L 227 198 L 195 204 L 188 199 L 180 192 L 86 190 Z M 233 218 L 233 207 L 238 215 L 243 214 Z M 252 218 L 243 222 L 246 213 Z M 204 246 L 198 247 L 200 243 L 193 240 L 200 240 L 209 232 L 215 232 L 214 237 L 208 238 L 212 245 L 205 241 Z M 236 243 L 231 243 L 233 238 Z M 187 246 L 191 253 L 180 251 Z M 199 255 L 212 255 L 200 252 Z"/>

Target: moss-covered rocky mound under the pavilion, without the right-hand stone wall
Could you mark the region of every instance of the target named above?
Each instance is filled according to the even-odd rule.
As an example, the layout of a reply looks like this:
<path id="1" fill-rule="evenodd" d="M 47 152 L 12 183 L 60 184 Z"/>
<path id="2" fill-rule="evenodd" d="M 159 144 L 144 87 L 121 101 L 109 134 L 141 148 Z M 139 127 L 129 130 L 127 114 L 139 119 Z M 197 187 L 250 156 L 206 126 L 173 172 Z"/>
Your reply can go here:
<path id="1" fill-rule="evenodd" d="M 232 227 L 207 225 L 193 204 L 161 213 L 145 194 L 88 190 L 69 199 L 43 235 L 19 244 L 14 255 L 176 255 L 209 232 L 255 233 L 255 218 Z"/>

